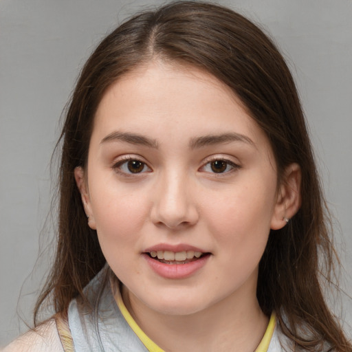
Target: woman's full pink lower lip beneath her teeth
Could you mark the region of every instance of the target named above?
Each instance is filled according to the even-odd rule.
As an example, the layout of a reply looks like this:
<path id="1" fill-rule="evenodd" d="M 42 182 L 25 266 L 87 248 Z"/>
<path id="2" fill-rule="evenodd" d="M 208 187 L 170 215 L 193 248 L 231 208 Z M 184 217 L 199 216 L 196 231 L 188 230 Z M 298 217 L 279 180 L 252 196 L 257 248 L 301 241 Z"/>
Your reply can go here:
<path id="1" fill-rule="evenodd" d="M 163 278 L 188 278 L 200 270 L 210 258 L 210 254 L 201 256 L 196 261 L 191 261 L 186 264 L 165 264 L 151 258 L 148 254 L 143 253 L 142 256 L 146 259 L 148 265 L 151 266 L 154 272 Z"/>

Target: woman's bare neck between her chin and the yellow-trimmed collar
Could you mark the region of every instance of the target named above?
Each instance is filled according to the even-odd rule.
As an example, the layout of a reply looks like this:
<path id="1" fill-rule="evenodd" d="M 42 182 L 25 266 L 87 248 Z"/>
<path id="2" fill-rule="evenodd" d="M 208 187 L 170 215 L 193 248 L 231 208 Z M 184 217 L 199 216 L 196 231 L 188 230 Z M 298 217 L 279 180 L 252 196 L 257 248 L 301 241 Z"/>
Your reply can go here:
<path id="1" fill-rule="evenodd" d="M 202 311 L 177 316 L 155 311 L 125 287 L 122 290 L 131 316 L 166 352 L 254 351 L 263 338 L 268 318 L 256 296 L 247 293 L 236 292 Z"/>

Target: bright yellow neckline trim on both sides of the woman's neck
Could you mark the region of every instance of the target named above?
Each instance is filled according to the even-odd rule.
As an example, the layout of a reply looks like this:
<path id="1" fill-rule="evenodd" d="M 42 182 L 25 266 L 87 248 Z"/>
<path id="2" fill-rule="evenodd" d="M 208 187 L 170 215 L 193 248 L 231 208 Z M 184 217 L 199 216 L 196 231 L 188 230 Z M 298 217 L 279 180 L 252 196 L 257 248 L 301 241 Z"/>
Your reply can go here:
<path id="1" fill-rule="evenodd" d="M 135 332 L 135 334 L 138 336 L 138 338 L 142 341 L 146 349 L 148 349 L 149 352 L 165 352 L 163 349 L 161 349 L 155 342 L 153 342 L 146 334 L 144 331 L 137 325 L 137 322 L 132 318 L 131 314 L 129 314 L 129 311 L 127 310 L 126 306 L 124 305 L 124 301 L 122 300 L 122 296 L 120 293 L 120 289 L 117 290 L 115 294 L 116 298 L 116 303 L 118 304 L 118 307 L 122 313 L 122 316 L 126 319 L 126 322 L 129 324 L 131 329 Z M 272 313 L 272 316 L 270 317 L 269 324 L 267 325 L 267 329 L 264 333 L 264 336 L 261 340 L 261 343 L 259 346 L 256 348 L 254 352 L 267 352 L 267 349 L 270 344 L 270 340 L 272 340 L 272 335 L 275 330 L 275 325 L 276 325 L 276 316 L 275 313 Z"/>

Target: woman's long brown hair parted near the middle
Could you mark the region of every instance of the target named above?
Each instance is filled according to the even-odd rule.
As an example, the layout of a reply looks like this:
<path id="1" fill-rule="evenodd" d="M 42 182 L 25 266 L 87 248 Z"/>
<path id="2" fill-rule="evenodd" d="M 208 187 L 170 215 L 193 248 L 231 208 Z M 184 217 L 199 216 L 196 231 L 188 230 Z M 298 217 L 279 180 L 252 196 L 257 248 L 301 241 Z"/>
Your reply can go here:
<path id="1" fill-rule="evenodd" d="M 276 311 L 295 348 L 316 351 L 327 344 L 351 352 L 322 294 L 322 278 L 331 282 L 335 253 L 292 75 L 272 41 L 248 19 L 220 5 L 192 1 L 177 1 L 129 19 L 98 45 L 83 67 L 61 133 L 56 259 L 36 304 L 34 322 L 50 297 L 57 312 L 65 312 L 72 298 L 84 298 L 83 287 L 104 266 L 96 231 L 87 225 L 74 168 L 84 168 L 87 162 L 94 114 L 104 91 L 155 58 L 203 69 L 228 85 L 267 133 L 278 177 L 285 166 L 300 165 L 302 206 L 287 226 L 270 233 L 259 265 L 257 296 L 265 314 Z"/>

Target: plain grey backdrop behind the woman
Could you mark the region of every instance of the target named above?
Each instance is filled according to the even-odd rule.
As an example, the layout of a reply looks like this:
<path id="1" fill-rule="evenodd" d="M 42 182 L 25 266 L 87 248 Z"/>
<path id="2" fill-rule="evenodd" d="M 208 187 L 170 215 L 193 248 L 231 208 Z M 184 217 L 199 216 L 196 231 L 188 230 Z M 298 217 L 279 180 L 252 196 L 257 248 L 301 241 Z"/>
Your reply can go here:
<path id="1" fill-rule="evenodd" d="M 43 230 L 50 156 L 78 69 L 119 20 L 163 2 L 0 0 L 0 346 L 26 329 L 19 316 L 31 322 L 52 256 L 41 255 L 31 274 L 40 245 L 52 249 L 50 221 Z M 262 23 L 289 61 L 336 216 L 336 242 L 347 272 L 342 284 L 351 295 L 352 1 L 218 2 Z M 342 299 L 351 324 L 352 301 Z"/>

